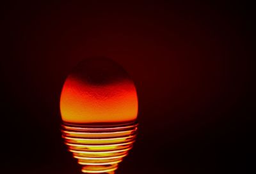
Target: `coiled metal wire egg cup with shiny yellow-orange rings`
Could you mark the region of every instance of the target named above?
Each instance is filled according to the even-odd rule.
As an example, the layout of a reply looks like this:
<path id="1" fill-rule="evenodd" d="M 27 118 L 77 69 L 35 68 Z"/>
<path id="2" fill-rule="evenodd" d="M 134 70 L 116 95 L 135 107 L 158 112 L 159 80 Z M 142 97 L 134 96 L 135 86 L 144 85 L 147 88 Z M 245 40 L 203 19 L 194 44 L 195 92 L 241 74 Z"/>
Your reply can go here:
<path id="1" fill-rule="evenodd" d="M 62 124 L 62 136 L 83 173 L 114 173 L 132 149 L 138 123 L 116 126 Z"/>

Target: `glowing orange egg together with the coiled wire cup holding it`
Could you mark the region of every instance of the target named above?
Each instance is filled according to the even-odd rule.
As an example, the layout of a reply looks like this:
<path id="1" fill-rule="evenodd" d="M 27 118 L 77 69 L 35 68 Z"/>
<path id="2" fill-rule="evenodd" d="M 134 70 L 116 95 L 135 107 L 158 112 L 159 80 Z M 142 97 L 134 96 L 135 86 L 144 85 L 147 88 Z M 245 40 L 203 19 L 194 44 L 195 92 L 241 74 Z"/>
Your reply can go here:
<path id="1" fill-rule="evenodd" d="M 62 134 L 83 173 L 114 173 L 137 133 L 138 97 L 115 62 L 87 59 L 68 75 L 60 98 Z"/>

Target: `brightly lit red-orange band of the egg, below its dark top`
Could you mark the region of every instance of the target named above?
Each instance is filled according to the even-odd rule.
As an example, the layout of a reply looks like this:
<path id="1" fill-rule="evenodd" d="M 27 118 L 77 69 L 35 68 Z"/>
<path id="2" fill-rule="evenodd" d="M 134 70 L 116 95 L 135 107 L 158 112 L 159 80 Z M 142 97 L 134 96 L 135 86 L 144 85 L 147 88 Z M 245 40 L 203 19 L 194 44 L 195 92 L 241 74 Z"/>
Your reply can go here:
<path id="1" fill-rule="evenodd" d="M 93 86 L 69 76 L 61 92 L 60 110 L 65 122 L 135 120 L 138 113 L 136 89 L 129 80 Z"/>

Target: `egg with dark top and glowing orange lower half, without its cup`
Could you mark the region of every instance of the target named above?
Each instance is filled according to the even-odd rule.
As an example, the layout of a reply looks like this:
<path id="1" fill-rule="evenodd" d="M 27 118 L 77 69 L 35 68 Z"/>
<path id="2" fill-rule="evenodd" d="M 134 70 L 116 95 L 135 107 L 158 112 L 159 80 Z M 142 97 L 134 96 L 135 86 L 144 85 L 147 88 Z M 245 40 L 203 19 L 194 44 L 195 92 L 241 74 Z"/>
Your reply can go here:
<path id="1" fill-rule="evenodd" d="M 136 89 L 127 72 L 115 62 L 87 59 L 68 75 L 60 111 L 64 122 L 77 124 L 136 120 Z"/>

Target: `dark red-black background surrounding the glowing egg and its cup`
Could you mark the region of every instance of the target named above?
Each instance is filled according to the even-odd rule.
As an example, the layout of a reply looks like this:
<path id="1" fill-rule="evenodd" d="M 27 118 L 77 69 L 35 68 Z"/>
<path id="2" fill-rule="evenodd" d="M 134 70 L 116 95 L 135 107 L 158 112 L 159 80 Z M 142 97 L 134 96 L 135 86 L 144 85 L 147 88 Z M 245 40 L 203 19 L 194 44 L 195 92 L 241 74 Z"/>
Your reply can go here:
<path id="1" fill-rule="evenodd" d="M 80 173 L 59 99 L 77 62 L 132 76 L 140 134 L 116 173 L 252 173 L 252 4 L 1 4 L 1 171 Z"/>

